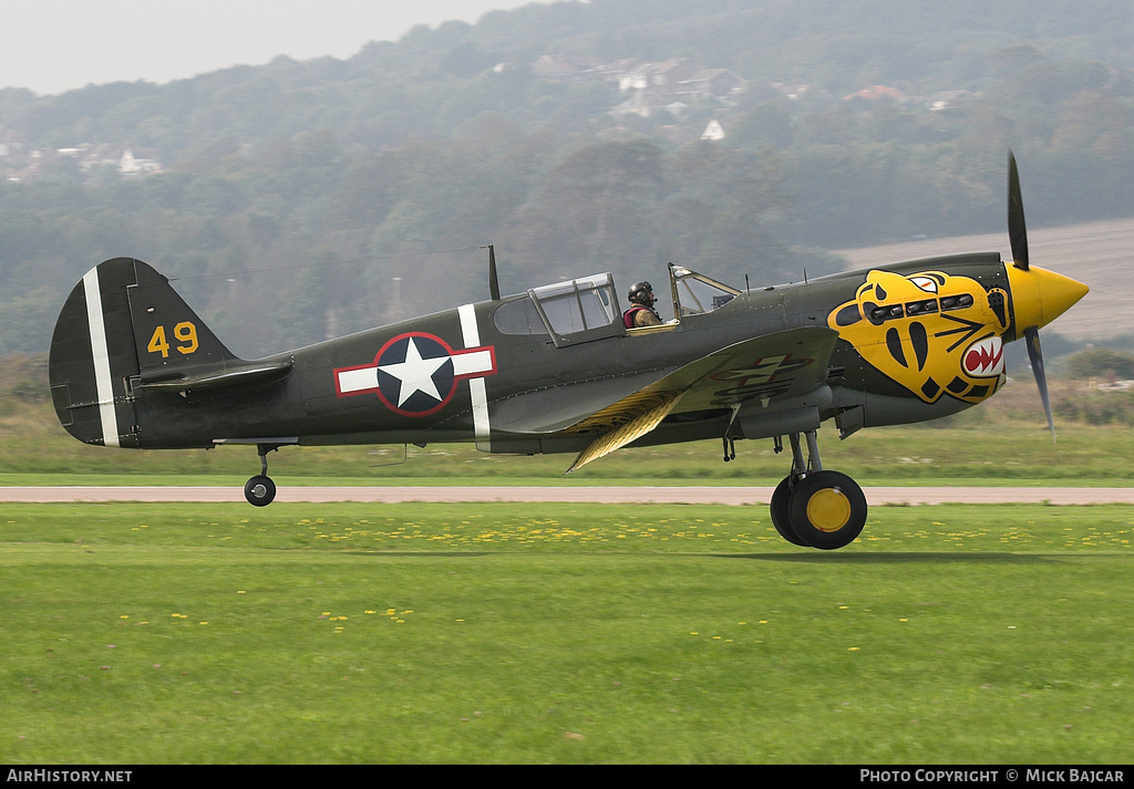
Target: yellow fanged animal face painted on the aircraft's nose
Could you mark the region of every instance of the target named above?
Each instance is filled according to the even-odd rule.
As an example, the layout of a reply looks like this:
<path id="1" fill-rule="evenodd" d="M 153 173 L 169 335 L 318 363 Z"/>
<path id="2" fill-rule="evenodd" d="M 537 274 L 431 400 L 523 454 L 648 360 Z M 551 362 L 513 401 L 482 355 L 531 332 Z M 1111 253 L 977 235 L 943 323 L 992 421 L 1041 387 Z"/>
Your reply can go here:
<path id="1" fill-rule="evenodd" d="M 968 277 L 871 271 L 827 319 L 872 367 L 925 402 L 980 402 L 1004 383 L 1008 294 Z"/>

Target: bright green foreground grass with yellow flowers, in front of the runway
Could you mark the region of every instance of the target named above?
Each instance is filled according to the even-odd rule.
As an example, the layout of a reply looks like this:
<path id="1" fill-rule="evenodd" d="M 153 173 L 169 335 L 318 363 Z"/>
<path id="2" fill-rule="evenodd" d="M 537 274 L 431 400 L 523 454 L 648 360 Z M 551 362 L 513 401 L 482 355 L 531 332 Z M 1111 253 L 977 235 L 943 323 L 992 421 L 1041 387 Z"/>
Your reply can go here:
<path id="1" fill-rule="evenodd" d="M 1125 763 L 1132 507 L 7 504 L 0 761 Z"/>

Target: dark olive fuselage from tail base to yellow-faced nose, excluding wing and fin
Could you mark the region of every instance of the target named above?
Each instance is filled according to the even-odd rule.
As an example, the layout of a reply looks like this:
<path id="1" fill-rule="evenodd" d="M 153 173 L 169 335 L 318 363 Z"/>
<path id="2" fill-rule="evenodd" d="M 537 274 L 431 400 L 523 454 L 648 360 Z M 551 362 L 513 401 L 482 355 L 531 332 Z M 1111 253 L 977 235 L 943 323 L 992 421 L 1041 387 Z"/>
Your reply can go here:
<path id="1" fill-rule="evenodd" d="M 268 387 L 143 390 L 134 402 L 138 446 L 475 441 L 491 451 L 577 451 L 589 439 L 565 432 L 576 414 L 721 348 L 798 328 L 838 332 L 829 359 L 819 360 L 829 374 L 814 400 L 821 419 L 839 417 L 853 432 L 990 397 L 1004 382 L 1002 343 L 1019 333 L 996 253 L 760 288 L 649 331 L 619 326 L 558 345 L 532 299 L 465 305 L 287 351 L 264 359 L 290 366 Z M 710 407 L 667 418 L 645 442 L 719 436 L 738 410 L 775 406 L 775 373 L 725 376 Z M 755 432 L 777 434 L 775 419 L 767 424 Z"/>

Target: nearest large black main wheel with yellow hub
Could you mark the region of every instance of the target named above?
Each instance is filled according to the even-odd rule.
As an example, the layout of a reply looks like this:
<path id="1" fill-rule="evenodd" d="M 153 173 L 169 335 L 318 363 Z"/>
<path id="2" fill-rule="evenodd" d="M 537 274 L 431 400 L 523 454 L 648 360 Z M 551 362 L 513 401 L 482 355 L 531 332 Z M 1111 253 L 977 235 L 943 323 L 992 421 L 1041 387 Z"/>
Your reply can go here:
<path id="1" fill-rule="evenodd" d="M 796 536 L 824 551 L 849 545 L 866 525 L 866 495 L 839 472 L 814 472 L 796 482 L 788 509 Z"/>

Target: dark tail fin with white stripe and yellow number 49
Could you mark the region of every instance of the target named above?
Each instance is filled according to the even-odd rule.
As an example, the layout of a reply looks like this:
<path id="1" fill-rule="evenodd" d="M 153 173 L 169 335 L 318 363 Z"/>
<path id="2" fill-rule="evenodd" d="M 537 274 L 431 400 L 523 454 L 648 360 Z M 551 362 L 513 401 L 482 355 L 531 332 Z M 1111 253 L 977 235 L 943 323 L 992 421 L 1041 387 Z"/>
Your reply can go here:
<path id="1" fill-rule="evenodd" d="M 64 303 L 51 337 L 51 399 L 79 441 L 137 447 L 136 385 L 235 358 L 169 280 L 116 257 L 91 269 Z"/>

